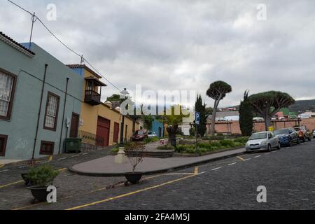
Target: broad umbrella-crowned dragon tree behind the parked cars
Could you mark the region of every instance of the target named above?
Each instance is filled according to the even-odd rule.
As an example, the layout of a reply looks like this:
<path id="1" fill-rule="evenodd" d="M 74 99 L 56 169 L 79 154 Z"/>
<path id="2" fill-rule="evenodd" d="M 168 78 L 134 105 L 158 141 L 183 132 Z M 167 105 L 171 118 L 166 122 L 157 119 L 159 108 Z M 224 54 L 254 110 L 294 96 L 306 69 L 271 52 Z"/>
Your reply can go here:
<path id="1" fill-rule="evenodd" d="M 248 97 L 253 111 L 259 113 L 265 119 L 266 131 L 271 125 L 271 119 L 283 107 L 288 107 L 295 103 L 295 100 L 285 92 L 261 92 Z"/>

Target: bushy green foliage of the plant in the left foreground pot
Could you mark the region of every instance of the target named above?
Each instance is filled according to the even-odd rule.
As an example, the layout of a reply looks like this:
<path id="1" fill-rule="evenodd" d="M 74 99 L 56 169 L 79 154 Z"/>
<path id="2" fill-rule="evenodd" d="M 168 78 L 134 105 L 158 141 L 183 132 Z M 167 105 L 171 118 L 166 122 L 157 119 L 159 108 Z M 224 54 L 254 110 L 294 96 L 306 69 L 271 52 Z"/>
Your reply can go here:
<path id="1" fill-rule="evenodd" d="M 58 176 L 59 172 L 50 165 L 42 165 L 40 167 L 31 167 L 25 176 L 34 186 L 49 186 Z"/>

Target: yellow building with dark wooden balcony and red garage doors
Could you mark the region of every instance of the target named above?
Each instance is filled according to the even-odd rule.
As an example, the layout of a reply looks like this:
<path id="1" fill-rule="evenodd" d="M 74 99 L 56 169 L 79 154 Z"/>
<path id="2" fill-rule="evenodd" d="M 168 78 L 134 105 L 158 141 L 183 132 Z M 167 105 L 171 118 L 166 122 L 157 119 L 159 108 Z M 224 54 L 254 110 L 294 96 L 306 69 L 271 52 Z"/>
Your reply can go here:
<path id="1" fill-rule="evenodd" d="M 80 127 L 78 133 L 73 133 L 73 137 L 79 136 L 85 145 L 90 146 L 104 147 L 118 144 L 123 116 L 120 114 L 119 108 L 114 109 L 110 102 L 101 101 L 102 87 L 106 87 L 106 84 L 100 80 L 102 77 L 84 64 L 68 66 L 85 78 Z M 139 123 L 126 116 L 124 140 L 130 141 L 136 130 L 139 130 Z"/>

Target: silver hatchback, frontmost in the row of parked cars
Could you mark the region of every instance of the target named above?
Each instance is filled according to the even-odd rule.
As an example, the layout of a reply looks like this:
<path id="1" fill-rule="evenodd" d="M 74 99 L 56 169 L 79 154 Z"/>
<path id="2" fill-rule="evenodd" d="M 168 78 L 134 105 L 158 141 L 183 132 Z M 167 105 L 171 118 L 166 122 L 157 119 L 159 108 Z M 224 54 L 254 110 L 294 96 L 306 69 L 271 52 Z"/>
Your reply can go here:
<path id="1" fill-rule="evenodd" d="M 279 138 L 274 132 L 257 132 L 246 143 L 246 151 L 272 151 L 273 148 L 281 148 Z"/>

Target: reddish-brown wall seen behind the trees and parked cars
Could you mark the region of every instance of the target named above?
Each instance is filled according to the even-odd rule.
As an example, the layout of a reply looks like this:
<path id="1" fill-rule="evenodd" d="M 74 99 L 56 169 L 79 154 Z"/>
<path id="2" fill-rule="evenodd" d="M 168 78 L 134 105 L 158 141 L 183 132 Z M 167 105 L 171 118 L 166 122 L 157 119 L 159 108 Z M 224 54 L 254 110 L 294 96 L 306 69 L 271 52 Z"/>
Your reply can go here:
<path id="1" fill-rule="evenodd" d="M 274 123 L 273 126 L 275 129 L 281 129 L 285 127 L 293 127 L 295 125 L 298 125 L 298 123 L 295 122 L 279 122 Z M 315 129 L 315 118 L 307 118 L 303 119 L 300 122 L 301 126 L 306 126 L 308 130 L 314 130 Z M 254 123 L 253 129 L 255 132 L 263 132 L 265 131 L 265 123 Z M 209 133 L 210 125 L 207 124 L 207 133 Z M 216 132 L 217 133 L 232 133 L 232 134 L 241 134 L 241 129 L 239 127 L 238 121 L 232 121 L 230 123 L 216 123 Z"/>

